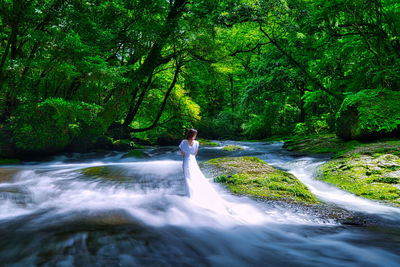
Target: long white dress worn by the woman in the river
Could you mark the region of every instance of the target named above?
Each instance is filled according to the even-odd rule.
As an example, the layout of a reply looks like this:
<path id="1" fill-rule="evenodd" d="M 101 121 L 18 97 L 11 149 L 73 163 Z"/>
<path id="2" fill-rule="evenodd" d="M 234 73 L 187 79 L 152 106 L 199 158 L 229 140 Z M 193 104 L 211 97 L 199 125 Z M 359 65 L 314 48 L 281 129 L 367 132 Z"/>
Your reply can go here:
<path id="1" fill-rule="evenodd" d="M 184 139 L 179 148 L 184 153 L 183 174 L 190 200 L 203 208 L 225 213 L 227 210 L 224 200 L 208 182 L 197 164 L 195 154 L 199 148 L 199 142 L 194 140 L 193 145 L 190 146 L 188 140 Z"/>

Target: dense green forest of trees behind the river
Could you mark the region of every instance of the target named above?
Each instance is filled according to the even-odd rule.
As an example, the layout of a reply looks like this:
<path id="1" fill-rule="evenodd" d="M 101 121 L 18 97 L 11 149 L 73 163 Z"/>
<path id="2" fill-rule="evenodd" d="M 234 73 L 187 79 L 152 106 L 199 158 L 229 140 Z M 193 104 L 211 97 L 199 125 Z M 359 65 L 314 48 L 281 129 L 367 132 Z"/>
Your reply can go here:
<path id="1" fill-rule="evenodd" d="M 400 132 L 396 0 L 2 0 L 0 156 Z"/>

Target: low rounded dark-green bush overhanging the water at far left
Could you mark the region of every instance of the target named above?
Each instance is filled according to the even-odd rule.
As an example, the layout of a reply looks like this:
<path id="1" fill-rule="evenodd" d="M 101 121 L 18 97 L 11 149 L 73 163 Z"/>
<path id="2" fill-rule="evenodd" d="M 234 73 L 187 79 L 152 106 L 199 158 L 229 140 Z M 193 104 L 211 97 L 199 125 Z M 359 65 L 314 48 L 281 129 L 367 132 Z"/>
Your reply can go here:
<path id="1" fill-rule="evenodd" d="M 10 118 L 12 142 L 19 153 L 61 151 L 74 138 L 102 134 L 100 111 L 97 105 L 62 98 L 20 106 Z"/>

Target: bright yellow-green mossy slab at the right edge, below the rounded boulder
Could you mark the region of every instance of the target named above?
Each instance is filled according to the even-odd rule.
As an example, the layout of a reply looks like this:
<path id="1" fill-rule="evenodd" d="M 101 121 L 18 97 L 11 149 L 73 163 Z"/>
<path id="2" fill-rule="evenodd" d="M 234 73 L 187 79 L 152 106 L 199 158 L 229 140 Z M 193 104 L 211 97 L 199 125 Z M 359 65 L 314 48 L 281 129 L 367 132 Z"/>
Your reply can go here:
<path id="1" fill-rule="evenodd" d="M 322 165 L 317 178 L 360 197 L 400 206 L 400 141 L 347 151 Z"/>

